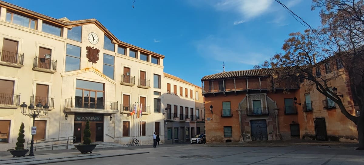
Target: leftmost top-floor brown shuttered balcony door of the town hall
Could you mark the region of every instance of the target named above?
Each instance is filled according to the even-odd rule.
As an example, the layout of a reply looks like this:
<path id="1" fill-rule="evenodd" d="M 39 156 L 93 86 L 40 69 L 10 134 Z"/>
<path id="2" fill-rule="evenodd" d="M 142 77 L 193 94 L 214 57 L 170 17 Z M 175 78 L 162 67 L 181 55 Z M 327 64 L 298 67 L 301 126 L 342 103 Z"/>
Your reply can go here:
<path id="1" fill-rule="evenodd" d="M 1 61 L 16 63 L 18 42 L 4 39 L 3 50 L 1 50 Z"/>

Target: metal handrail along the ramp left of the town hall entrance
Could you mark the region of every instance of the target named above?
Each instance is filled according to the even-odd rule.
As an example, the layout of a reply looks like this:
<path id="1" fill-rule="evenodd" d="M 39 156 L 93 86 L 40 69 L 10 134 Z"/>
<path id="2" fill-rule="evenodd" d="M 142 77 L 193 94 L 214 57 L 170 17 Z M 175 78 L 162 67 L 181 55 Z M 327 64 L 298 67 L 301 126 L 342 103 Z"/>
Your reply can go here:
<path id="1" fill-rule="evenodd" d="M 67 138 L 67 139 L 62 139 L 62 138 Z M 55 140 L 55 139 L 58 139 L 58 140 Z M 53 150 L 54 147 L 60 147 L 60 146 L 63 146 L 64 144 L 66 144 L 66 149 L 68 149 L 68 143 L 70 140 L 72 140 L 72 143 L 75 143 L 76 136 L 55 137 L 55 138 L 50 138 L 50 139 L 34 140 L 34 150 L 37 150 L 37 144 L 44 144 L 44 143 L 52 143 L 52 144 L 41 145 L 40 147 L 38 147 L 38 149 L 52 148 L 52 150 Z M 67 141 L 67 142 L 54 144 L 54 142 L 57 142 L 57 141 Z M 27 141 L 28 148 L 30 147 L 30 142 L 31 142 L 30 140 Z"/>

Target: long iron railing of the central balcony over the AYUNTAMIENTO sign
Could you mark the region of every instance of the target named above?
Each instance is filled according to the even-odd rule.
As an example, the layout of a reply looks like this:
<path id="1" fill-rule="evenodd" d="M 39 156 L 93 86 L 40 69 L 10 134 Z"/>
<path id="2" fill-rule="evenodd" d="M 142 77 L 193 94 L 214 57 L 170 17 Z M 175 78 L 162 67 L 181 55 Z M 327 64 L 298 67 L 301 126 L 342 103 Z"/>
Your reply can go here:
<path id="1" fill-rule="evenodd" d="M 64 108 L 88 108 L 98 110 L 118 110 L 118 102 L 109 102 L 103 100 L 91 100 L 95 102 L 86 102 L 83 99 L 68 98 L 64 100 Z"/>

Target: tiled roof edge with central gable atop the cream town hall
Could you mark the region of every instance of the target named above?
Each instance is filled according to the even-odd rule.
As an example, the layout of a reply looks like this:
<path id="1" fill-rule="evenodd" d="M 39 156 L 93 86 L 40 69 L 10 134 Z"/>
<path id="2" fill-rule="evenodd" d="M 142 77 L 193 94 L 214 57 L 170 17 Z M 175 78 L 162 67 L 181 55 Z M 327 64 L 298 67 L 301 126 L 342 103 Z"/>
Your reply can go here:
<path id="1" fill-rule="evenodd" d="M 17 5 L 14 5 L 14 4 L 11 4 L 11 3 L 8 3 L 8 2 L 5 2 L 5 1 L 1 1 L 0 0 L 0 7 L 1 6 L 10 7 L 13 10 L 19 10 L 19 11 L 24 12 L 24 13 L 27 13 L 29 15 L 33 15 L 33 16 L 36 16 L 36 17 L 39 17 L 39 18 L 43 18 L 43 19 L 45 19 L 47 21 L 51 21 L 51 22 L 54 22 L 56 24 L 63 25 L 63 26 L 65 26 L 68 29 L 71 29 L 72 28 L 71 25 L 78 25 L 78 24 L 85 24 L 85 23 L 89 23 L 89 24 L 95 23 L 96 25 L 99 25 L 100 28 L 102 28 L 105 32 L 107 32 L 107 34 L 110 35 L 116 42 L 118 42 L 118 44 L 123 44 L 125 46 L 129 46 L 129 47 L 134 48 L 134 49 L 137 49 L 137 50 L 142 50 L 142 51 L 145 51 L 146 53 L 150 53 L 150 54 L 156 55 L 156 56 L 158 56 L 160 58 L 164 58 L 165 57 L 162 54 L 158 54 L 158 53 L 155 53 L 153 51 L 146 50 L 146 49 L 140 48 L 138 46 L 131 45 L 131 44 L 128 44 L 126 42 L 120 41 L 104 25 L 102 25 L 98 20 L 96 20 L 94 18 L 92 18 L 92 19 L 86 19 L 86 20 L 65 21 L 62 18 L 61 18 L 62 20 L 56 19 L 56 18 L 53 18 L 53 17 L 50 17 L 50 16 L 46 16 L 46 15 L 43 15 L 41 13 L 38 13 L 38 12 L 35 12 L 35 11 L 31 11 L 29 9 L 26 9 L 26 8 L 23 8 L 23 7 L 20 7 L 20 6 L 17 6 Z"/>

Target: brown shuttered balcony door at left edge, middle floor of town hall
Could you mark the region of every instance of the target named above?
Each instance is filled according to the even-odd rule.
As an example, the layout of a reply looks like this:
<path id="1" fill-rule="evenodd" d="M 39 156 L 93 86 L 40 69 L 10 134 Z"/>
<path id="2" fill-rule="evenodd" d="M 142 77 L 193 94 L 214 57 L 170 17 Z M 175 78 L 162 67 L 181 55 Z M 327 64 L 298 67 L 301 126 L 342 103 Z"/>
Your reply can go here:
<path id="1" fill-rule="evenodd" d="M 15 101 L 13 95 L 14 81 L 0 79 L 0 84 L 0 104 L 12 105 Z"/>

